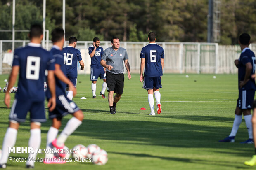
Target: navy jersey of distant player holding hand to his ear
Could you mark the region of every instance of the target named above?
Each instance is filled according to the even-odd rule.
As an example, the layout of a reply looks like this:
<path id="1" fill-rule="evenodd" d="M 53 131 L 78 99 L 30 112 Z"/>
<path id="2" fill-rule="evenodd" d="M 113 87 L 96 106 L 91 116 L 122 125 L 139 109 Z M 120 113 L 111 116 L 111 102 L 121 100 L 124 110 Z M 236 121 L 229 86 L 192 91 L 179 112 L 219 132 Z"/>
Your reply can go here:
<path id="1" fill-rule="evenodd" d="M 90 46 L 88 50 L 89 54 L 91 54 L 94 50 L 94 47 Z M 91 57 L 91 68 L 102 68 L 102 65 L 100 65 L 100 60 L 103 52 L 104 50 L 101 46 L 96 48 L 94 56 Z"/>

